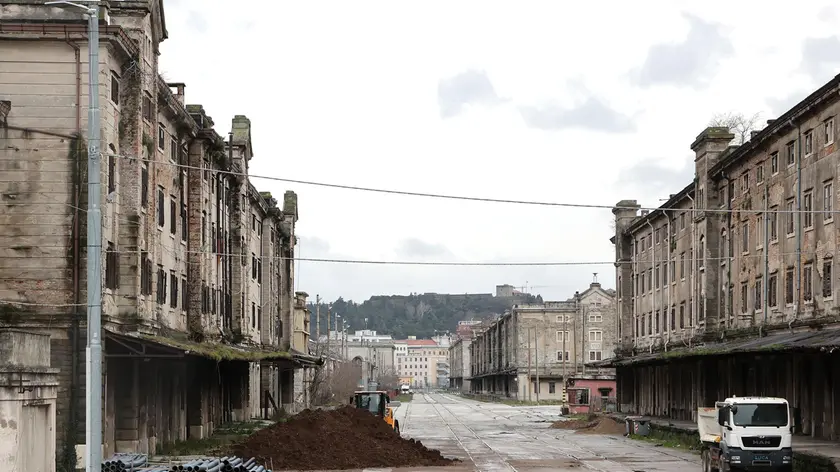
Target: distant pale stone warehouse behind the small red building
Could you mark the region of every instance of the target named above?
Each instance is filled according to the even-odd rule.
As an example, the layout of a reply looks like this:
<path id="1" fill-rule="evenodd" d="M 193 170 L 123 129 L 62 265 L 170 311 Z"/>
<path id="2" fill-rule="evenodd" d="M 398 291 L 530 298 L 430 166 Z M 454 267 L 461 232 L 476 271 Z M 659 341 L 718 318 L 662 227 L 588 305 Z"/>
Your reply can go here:
<path id="1" fill-rule="evenodd" d="M 561 400 L 574 382 L 585 390 L 576 400 L 588 405 L 592 397 L 614 395 L 603 385 L 614 381 L 612 372 L 588 364 L 611 357 L 616 336 L 615 292 L 598 282 L 566 301 L 514 305 L 470 343 L 470 388 L 520 400 Z M 587 382 L 598 383 L 598 392 L 590 392 Z"/>

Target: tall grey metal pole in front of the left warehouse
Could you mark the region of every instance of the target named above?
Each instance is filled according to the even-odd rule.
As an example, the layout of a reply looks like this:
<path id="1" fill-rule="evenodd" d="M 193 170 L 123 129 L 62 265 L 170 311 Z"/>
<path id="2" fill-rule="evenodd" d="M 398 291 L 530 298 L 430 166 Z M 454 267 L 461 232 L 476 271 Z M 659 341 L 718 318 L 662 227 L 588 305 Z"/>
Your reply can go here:
<path id="1" fill-rule="evenodd" d="M 85 1 L 85 0 L 82 0 Z M 87 352 L 85 379 L 85 470 L 102 470 L 102 195 L 99 153 L 99 3 L 47 2 L 85 10 L 88 20 L 88 218 L 87 218 Z"/>

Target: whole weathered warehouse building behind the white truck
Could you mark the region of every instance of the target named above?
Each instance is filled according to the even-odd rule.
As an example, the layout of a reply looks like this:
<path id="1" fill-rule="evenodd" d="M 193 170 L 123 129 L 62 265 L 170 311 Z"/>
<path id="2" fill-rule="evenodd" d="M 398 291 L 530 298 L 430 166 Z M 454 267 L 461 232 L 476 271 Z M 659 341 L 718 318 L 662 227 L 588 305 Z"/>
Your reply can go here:
<path id="1" fill-rule="evenodd" d="M 694 182 L 654 211 L 616 205 L 621 350 L 604 364 L 624 411 L 692 419 L 720 398 L 775 395 L 801 432 L 840 432 L 838 101 L 840 76 L 740 146 L 707 128 Z"/>

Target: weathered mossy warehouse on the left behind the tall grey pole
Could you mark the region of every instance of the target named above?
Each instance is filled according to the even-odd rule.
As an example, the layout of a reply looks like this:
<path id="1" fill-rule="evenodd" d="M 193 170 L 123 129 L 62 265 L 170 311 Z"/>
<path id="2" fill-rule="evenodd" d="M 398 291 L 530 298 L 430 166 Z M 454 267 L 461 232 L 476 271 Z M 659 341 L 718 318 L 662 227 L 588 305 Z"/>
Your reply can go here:
<path id="1" fill-rule="evenodd" d="M 103 446 L 153 452 L 254 415 L 262 390 L 294 407 L 293 372 L 316 360 L 290 353 L 294 274 L 281 257 L 297 197 L 281 207 L 249 183 L 247 118 L 226 140 L 184 84 L 160 77 L 162 2 L 102 8 Z M 0 25 L 0 321 L 51 337 L 68 470 L 85 431 L 86 31 L 78 10 L 27 0 Z M 244 224 L 254 217 L 259 228 Z M 275 377 L 260 388 L 265 370 Z"/>

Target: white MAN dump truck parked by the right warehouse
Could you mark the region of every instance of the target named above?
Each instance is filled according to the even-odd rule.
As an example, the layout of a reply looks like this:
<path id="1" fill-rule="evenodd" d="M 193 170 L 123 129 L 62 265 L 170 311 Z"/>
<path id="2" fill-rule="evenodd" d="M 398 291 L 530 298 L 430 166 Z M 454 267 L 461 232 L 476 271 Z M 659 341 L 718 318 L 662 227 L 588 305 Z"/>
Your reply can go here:
<path id="1" fill-rule="evenodd" d="M 793 422 L 784 398 L 735 397 L 698 408 L 703 472 L 793 470 Z"/>

